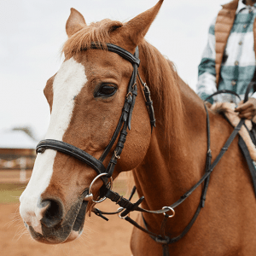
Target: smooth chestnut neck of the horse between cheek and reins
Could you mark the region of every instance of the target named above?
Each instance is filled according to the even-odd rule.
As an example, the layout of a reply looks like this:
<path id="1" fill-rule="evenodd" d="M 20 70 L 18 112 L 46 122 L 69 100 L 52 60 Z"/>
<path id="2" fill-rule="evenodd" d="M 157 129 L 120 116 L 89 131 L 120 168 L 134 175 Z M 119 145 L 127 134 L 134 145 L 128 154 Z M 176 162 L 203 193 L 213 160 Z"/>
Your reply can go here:
<path id="1" fill-rule="evenodd" d="M 182 136 L 175 138 L 175 143 L 166 144 L 167 131 L 160 122 L 152 134 L 142 165 L 134 171 L 138 193 L 145 196 L 143 207 L 151 210 L 171 206 L 177 201 L 201 178 L 206 164 L 207 118 L 204 105 L 182 80 L 179 86 L 184 111 L 179 113 L 183 115 L 183 127 L 177 129 L 182 129 Z M 158 108 L 158 102 L 154 102 L 154 105 Z M 184 218 L 189 221 L 190 212 L 195 212 L 200 197 L 201 190 L 197 189 L 189 200 L 178 207 L 177 211 L 181 214 L 177 214 L 175 219 L 177 229 L 172 226 L 174 233 L 183 229 L 183 224 L 187 223 Z M 148 223 L 152 220 L 150 218 L 160 223 L 162 216 L 146 214 L 145 218 L 148 218 Z"/>

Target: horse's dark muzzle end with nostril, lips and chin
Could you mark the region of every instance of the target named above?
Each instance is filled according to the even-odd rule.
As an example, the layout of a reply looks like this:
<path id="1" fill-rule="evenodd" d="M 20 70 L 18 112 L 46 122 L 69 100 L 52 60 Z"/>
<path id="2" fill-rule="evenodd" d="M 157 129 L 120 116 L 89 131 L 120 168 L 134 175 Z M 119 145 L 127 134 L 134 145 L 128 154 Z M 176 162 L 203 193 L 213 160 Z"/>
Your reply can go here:
<path id="1" fill-rule="evenodd" d="M 65 214 L 61 201 L 56 199 L 44 200 L 38 207 L 41 207 L 40 221 L 24 218 L 26 228 L 33 239 L 48 244 L 58 244 L 65 241 L 73 241 L 78 238 L 84 227 L 84 218 L 88 202 L 79 198 Z"/>

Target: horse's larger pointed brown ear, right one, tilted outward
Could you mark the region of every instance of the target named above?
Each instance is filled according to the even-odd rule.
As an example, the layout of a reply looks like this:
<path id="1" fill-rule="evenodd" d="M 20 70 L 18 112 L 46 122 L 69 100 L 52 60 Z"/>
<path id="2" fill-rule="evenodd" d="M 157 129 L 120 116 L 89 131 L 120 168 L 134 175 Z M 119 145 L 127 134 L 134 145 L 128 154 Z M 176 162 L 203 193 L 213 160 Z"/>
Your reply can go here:
<path id="1" fill-rule="evenodd" d="M 163 2 L 164 0 L 160 0 L 153 8 L 137 15 L 123 26 L 123 32 L 131 39 L 133 46 L 136 47 L 143 40 Z"/>

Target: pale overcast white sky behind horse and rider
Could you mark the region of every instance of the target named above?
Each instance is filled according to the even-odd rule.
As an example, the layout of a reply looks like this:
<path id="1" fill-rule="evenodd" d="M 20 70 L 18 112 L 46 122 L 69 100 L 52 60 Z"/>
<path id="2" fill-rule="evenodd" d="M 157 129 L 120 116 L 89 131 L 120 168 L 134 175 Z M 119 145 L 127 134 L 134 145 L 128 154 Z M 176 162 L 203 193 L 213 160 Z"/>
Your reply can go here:
<path id="1" fill-rule="evenodd" d="M 212 20 L 227 0 L 165 0 L 146 39 L 174 62 L 180 77 L 195 90 L 197 67 Z M 61 46 L 70 8 L 87 24 L 128 21 L 157 0 L 1 0 L 0 131 L 30 126 L 38 140 L 49 125 L 46 81 L 63 61 Z"/>

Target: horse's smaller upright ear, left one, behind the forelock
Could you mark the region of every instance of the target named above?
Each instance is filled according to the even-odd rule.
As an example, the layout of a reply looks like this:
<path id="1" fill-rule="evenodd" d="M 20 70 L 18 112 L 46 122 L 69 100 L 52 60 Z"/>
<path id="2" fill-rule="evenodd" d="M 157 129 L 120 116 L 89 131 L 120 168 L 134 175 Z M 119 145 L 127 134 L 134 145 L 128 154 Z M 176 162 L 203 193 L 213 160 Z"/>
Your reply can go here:
<path id="1" fill-rule="evenodd" d="M 68 38 L 70 38 L 75 32 L 78 32 L 84 26 L 86 26 L 86 22 L 84 20 L 84 16 L 79 13 L 76 9 L 70 9 L 71 13 L 67 19 L 66 23 L 66 32 Z"/>

